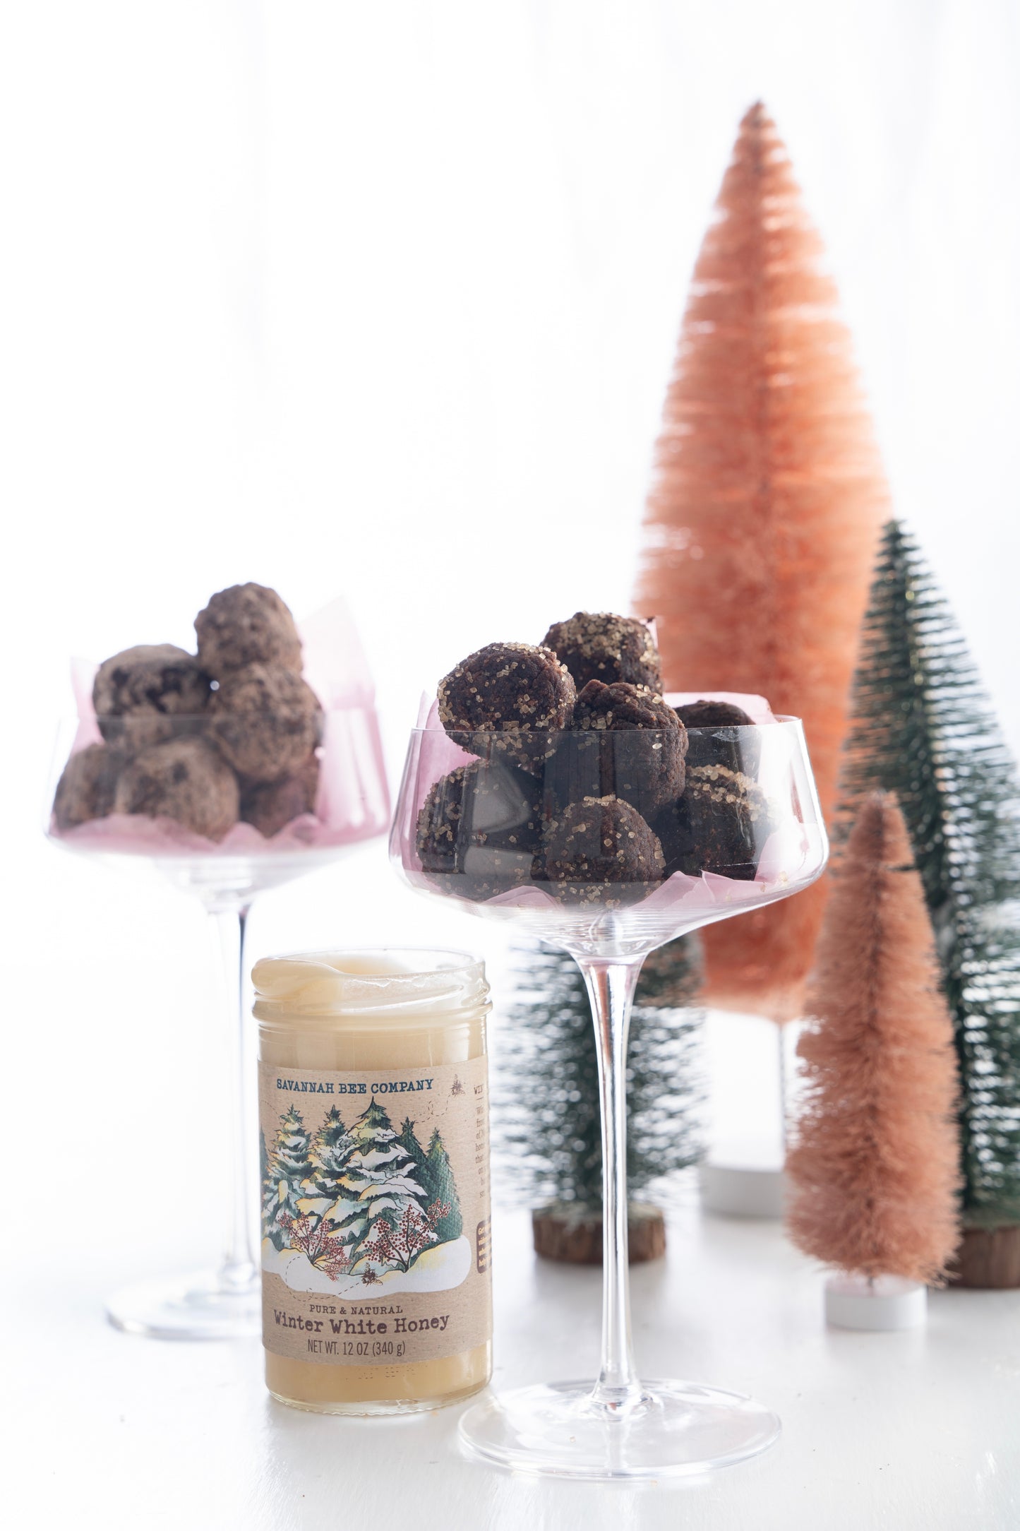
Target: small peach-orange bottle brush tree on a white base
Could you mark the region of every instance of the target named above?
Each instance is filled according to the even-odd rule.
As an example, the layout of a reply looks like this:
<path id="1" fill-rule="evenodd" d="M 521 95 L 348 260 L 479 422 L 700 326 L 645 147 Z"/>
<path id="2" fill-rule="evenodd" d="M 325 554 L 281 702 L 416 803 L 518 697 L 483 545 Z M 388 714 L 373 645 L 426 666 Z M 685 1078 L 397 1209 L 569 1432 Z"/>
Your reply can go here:
<path id="1" fill-rule="evenodd" d="M 794 1242 L 855 1275 L 940 1281 L 957 1243 L 953 1023 L 896 799 L 861 805 L 818 940 L 786 1160 Z"/>

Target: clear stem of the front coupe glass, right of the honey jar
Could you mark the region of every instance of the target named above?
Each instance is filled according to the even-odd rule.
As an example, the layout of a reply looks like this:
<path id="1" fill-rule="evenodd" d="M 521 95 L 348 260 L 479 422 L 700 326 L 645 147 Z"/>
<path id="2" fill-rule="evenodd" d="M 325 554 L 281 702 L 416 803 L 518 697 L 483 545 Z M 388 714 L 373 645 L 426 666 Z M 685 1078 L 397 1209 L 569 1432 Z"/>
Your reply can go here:
<path id="1" fill-rule="evenodd" d="M 625 1416 L 642 1398 L 630 1343 L 627 1262 L 627 1032 L 642 958 L 577 961 L 592 1001 L 603 1113 L 603 1361 L 592 1402 Z"/>

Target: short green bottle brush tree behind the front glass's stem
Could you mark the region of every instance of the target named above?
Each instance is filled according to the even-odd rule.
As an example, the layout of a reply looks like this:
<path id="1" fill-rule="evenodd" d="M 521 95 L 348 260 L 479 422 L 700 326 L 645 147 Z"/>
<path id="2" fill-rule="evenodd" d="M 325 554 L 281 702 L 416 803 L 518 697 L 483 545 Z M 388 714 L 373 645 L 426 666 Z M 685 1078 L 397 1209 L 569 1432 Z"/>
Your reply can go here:
<path id="1" fill-rule="evenodd" d="M 638 980 L 627 1055 L 630 1258 L 665 1251 L 662 1213 L 642 1191 L 699 1157 L 700 1014 L 697 937 L 651 952 Z M 603 1258 L 603 1144 L 592 1009 L 564 952 L 520 949 L 514 1000 L 497 1036 L 494 1130 L 509 1196 L 532 1208 L 535 1249 L 557 1260 Z"/>

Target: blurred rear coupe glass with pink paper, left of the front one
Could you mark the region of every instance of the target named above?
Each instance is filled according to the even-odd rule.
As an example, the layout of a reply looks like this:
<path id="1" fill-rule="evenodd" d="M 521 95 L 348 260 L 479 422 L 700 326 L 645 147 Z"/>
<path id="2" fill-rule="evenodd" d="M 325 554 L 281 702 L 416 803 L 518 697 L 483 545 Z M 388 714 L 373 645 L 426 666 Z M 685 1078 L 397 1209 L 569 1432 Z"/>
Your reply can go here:
<path id="1" fill-rule="evenodd" d="M 239 721 L 251 726 L 251 720 Z M 269 730 L 287 726 L 286 718 L 272 715 L 263 715 L 258 723 Z M 193 741 L 208 729 L 208 720 L 161 717 L 159 729 L 162 744 Z M 216 922 L 223 954 L 232 1072 L 231 1202 L 223 1255 L 210 1271 L 141 1281 L 115 1292 L 107 1317 L 130 1334 L 162 1340 L 225 1340 L 257 1335 L 261 1329 L 249 1173 L 254 1064 L 243 1000 L 248 914 L 255 894 L 336 860 L 349 847 L 384 834 L 390 822 L 375 709 L 367 703 L 326 709 L 320 732 L 313 801 L 310 793 L 303 798 L 300 788 L 294 788 L 291 801 L 281 793 L 278 802 L 263 804 L 260 824 L 265 833 L 252 824 L 239 822 L 214 842 L 170 818 L 112 811 L 116 753 L 104 767 L 110 779 L 95 784 L 90 802 L 64 801 L 63 811 L 47 810 L 46 834 L 63 850 L 90 856 L 121 871 L 156 873 L 197 897 Z M 67 761 L 98 744 L 101 735 L 95 717 L 83 713 L 61 726 L 47 804 L 54 804 L 54 792 Z M 89 792 L 83 796 L 89 798 Z M 102 811 L 102 816 L 69 822 L 83 811 Z"/>

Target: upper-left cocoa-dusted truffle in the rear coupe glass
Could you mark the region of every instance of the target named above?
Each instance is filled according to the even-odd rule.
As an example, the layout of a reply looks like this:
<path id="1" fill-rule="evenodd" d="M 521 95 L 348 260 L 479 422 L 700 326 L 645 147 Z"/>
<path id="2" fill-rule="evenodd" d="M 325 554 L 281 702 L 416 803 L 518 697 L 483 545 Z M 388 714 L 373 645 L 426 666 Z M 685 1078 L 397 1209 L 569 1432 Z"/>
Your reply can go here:
<path id="1" fill-rule="evenodd" d="M 125 750 L 197 732 L 208 698 L 210 677 L 173 643 L 139 643 L 115 654 L 92 687 L 102 738 Z"/>

